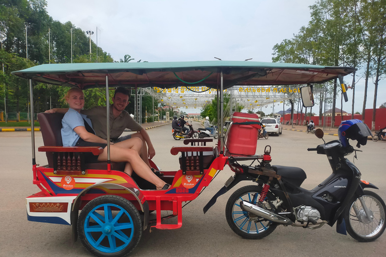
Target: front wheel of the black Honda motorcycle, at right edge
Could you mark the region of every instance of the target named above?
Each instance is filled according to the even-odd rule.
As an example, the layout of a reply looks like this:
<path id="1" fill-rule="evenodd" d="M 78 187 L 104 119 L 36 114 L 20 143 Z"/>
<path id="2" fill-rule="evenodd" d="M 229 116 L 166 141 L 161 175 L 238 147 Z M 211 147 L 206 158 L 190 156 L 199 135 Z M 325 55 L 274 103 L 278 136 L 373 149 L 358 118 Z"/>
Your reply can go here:
<path id="1" fill-rule="evenodd" d="M 354 239 L 370 242 L 378 238 L 386 227 L 386 206 L 382 198 L 372 191 L 365 190 L 362 198 L 371 218 L 366 216 L 359 197 L 354 197 L 344 211 L 344 219 L 346 230 Z"/>

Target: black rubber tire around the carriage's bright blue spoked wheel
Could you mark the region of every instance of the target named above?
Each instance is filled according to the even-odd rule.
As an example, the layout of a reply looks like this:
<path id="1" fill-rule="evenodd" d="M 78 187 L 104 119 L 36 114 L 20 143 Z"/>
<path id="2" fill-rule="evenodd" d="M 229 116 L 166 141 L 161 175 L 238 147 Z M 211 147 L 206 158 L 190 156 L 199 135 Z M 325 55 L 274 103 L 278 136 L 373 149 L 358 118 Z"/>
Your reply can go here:
<path id="1" fill-rule="evenodd" d="M 121 211 L 124 210 L 124 214 L 119 216 L 119 218 L 117 218 L 116 223 L 114 223 L 114 224 L 121 224 L 121 223 L 118 223 L 118 221 L 126 221 L 126 222 L 132 221 L 132 223 L 131 222 L 130 223 L 122 223 L 122 224 L 131 224 L 132 225 L 131 228 L 120 229 L 120 232 L 117 232 L 121 236 L 122 236 L 122 234 L 124 234 L 125 236 L 128 236 L 128 234 L 130 234 L 130 236 L 128 236 L 130 239 L 130 242 L 126 246 L 124 246 L 123 249 L 117 250 L 116 252 L 109 252 L 109 250 L 102 251 L 100 249 L 96 249 L 94 246 L 92 246 L 92 243 L 96 244 L 96 242 L 94 241 L 94 242 L 90 243 L 89 239 L 87 239 L 86 232 L 84 231 L 85 222 L 88 222 L 86 225 L 87 227 L 90 224 L 98 225 L 98 223 L 95 222 L 95 220 L 92 221 L 92 216 L 89 215 L 90 213 L 92 213 L 94 215 L 94 213 L 96 211 L 96 210 L 93 211 L 94 208 L 101 206 L 101 205 L 107 206 L 107 205 L 112 205 L 112 204 L 114 206 L 119 206 L 119 208 L 121 208 Z M 114 206 L 113 206 L 113 208 L 114 208 Z M 112 210 L 113 209 L 111 209 L 111 213 L 113 213 Z M 100 212 L 100 209 L 98 209 L 98 211 Z M 128 213 L 130 215 L 130 217 L 125 212 Z M 104 214 L 104 212 L 103 212 L 103 214 Z M 114 212 L 114 214 L 115 214 L 115 212 Z M 116 215 L 115 218 L 117 216 L 118 215 Z M 103 217 L 103 216 L 101 216 L 101 217 Z M 87 218 L 87 220 L 86 220 L 86 218 Z M 114 215 L 112 218 L 114 218 Z M 130 218 L 131 218 L 131 220 L 130 220 Z M 99 222 L 103 223 L 104 220 L 100 220 Z M 110 223 L 110 224 L 112 224 L 112 223 Z M 106 257 L 106 256 L 118 257 L 118 256 L 126 256 L 127 254 L 129 254 L 139 243 L 139 240 L 141 239 L 141 236 L 142 236 L 142 228 L 143 228 L 142 219 L 139 215 L 138 210 L 134 206 L 134 204 L 132 204 L 129 200 L 127 200 L 123 197 L 117 196 L 117 195 L 103 195 L 103 196 L 97 197 L 97 198 L 91 200 L 90 202 L 88 202 L 84 206 L 82 211 L 80 212 L 80 215 L 78 218 L 78 223 L 77 223 L 77 230 L 78 230 L 79 239 L 82 242 L 83 246 L 92 254 L 95 254 L 96 256 L 101 256 L 101 257 Z M 114 232 L 115 232 L 115 230 L 114 230 Z M 126 232 L 128 234 L 126 234 Z M 91 233 L 94 233 L 94 234 L 91 234 Z M 92 240 L 95 240 L 95 239 L 98 239 L 99 237 L 102 237 L 102 235 L 104 235 L 104 232 L 96 231 L 96 232 L 90 232 L 90 234 L 88 234 L 88 237 L 91 237 Z M 114 235 L 114 233 L 111 234 L 110 236 L 113 237 L 113 235 Z M 97 246 L 100 246 L 101 248 L 106 247 L 106 249 L 109 249 L 109 247 L 113 247 L 113 248 L 118 247 L 118 243 L 123 242 L 123 241 L 117 240 L 117 238 L 119 238 L 119 237 L 114 237 L 112 240 L 115 239 L 115 245 L 111 246 L 109 240 L 107 240 L 106 237 L 108 237 L 108 236 L 105 235 L 104 239 Z M 123 245 L 124 244 L 125 243 L 123 243 Z"/>

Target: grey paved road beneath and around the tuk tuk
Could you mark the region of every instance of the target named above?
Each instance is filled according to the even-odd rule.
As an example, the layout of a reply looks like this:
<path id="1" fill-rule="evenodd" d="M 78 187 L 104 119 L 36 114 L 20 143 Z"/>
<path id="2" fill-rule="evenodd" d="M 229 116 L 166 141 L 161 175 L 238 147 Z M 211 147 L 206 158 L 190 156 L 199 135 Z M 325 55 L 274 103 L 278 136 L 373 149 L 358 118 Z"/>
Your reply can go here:
<path id="1" fill-rule="evenodd" d="M 197 128 L 198 123 L 194 123 Z M 170 155 L 170 148 L 182 145 L 171 137 L 170 125 L 148 131 L 156 149 L 154 161 L 163 170 L 178 169 L 177 156 Z M 36 145 L 42 145 L 40 132 Z M 337 137 L 326 136 L 326 141 Z M 71 245 L 70 226 L 27 221 L 25 197 L 38 192 L 32 185 L 30 133 L 0 133 L 0 256 L 91 256 L 79 241 Z M 307 152 L 322 141 L 314 135 L 283 131 L 279 137 L 259 140 L 257 153 L 266 144 L 272 147 L 274 164 L 303 168 L 308 178 L 304 187 L 312 189 L 331 173 L 325 156 Z M 362 147 L 355 164 L 362 178 L 374 183 L 376 190 L 386 199 L 386 142 L 371 142 Z M 351 161 L 353 155 L 348 157 Z M 46 164 L 44 153 L 37 153 L 37 162 Z M 336 233 L 335 226 L 317 230 L 278 226 L 261 240 L 246 240 L 236 235 L 225 219 L 225 205 L 231 193 L 221 196 L 217 203 L 203 214 L 203 207 L 232 175 L 226 168 L 211 185 L 193 202 L 183 208 L 183 226 L 177 230 L 144 231 L 132 256 L 384 256 L 386 234 L 375 242 L 359 243 L 350 236 Z M 248 184 L 248 183 L 244 183 Z M 166 212 L 164 213 L 166 214 Z M 154 214 L 151 214 L 155 218 Z M 170 220 L 174 222 L 174 220 Z"/>

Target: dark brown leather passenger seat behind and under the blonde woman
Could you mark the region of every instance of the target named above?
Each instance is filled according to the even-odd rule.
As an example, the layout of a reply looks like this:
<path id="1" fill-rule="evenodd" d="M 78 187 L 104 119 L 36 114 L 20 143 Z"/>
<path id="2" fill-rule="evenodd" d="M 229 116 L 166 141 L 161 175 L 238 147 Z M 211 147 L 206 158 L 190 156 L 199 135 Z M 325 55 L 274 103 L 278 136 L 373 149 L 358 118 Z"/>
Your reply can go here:
<path id="1" fill-rule="evenodd" d="M 60 130 L 62 129 L 62 113 L 39 113 L 38 120 L 40 123 L 40 130 L 42 132 L 44 146 L 63 146 L 62 135 Z M 53 168 L 54 154 L 52 152 L 46 152 L 48 167 Z M 86 169 L 106 170 L 107 162 L 99 163 L 86 163 Z M 112 170 L 123 171 L 125 169 L 125 163 L 111 163 Z"/>

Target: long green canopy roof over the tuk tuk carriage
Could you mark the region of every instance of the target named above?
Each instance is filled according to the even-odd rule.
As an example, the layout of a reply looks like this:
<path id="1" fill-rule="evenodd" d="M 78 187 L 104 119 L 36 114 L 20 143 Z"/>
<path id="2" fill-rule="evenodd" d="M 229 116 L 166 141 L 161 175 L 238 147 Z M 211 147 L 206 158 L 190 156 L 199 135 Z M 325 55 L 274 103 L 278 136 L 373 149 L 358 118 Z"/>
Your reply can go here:
<path id="1" fill-rule="evenodd" d="M 354 72 L 351 67 L 249 61 L 128 62 L 43 64 L 14 71 L 13 75 L 37 82 L 79 86 L 82 89 L 109 86 L 161 87 L 220 85 L 288 85 L 323 83 Z M 201 81 L 199 83 L 195 83 Z"/>

